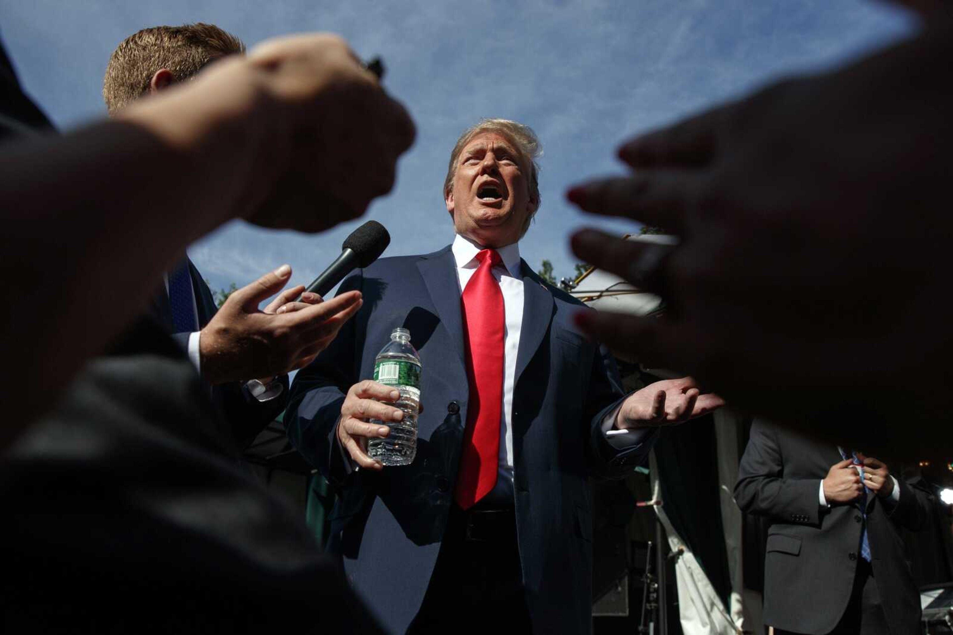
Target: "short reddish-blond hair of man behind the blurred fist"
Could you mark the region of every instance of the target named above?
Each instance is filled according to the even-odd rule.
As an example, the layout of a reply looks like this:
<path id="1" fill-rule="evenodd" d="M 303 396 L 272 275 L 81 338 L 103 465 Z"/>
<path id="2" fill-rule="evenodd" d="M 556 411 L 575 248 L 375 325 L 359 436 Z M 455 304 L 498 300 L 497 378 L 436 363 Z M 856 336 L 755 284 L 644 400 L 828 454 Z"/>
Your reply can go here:
<path id="1" fill-rule="evenodd" d="M 182 81 L 219 57 L 243 52 L 232 33 L 201 22 L 137 31 L 112 51 L 103 78 L 106 108 L 112 114 L 148 92 L 156 70 L 169 69 Z"/>

